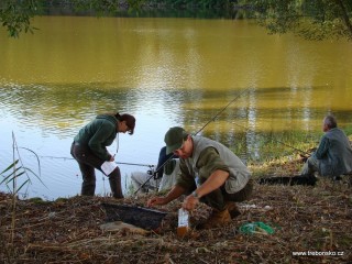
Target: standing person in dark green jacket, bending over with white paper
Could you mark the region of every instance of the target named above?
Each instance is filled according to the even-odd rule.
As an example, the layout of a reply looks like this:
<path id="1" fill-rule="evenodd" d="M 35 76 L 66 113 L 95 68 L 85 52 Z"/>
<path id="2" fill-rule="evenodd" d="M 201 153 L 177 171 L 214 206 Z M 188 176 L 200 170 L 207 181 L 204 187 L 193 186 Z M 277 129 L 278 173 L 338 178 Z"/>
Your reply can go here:
<path id="1" fill-rule="evenodd" d="M 113 163 L 114 155 L 107 146 L 111 145 L 118 133 L 133 134 L 135 119 L 124 113 L 99 114 L 79 130 L 70 147 L 70 154 L 77 161 L 81 172 L 81 195 L 94 196 L 96 190 L 95 169 L 109 177 L 114 198 L 123 198 L 120 168 Z"/>

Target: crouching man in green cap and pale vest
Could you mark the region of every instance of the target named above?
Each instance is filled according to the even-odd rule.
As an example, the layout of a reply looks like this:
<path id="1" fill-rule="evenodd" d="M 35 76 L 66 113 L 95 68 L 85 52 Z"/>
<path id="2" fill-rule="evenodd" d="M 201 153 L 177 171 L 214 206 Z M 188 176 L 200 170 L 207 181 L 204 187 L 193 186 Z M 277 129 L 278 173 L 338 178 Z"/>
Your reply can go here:
<path id="1" fill-rule="evenodd" d="M 238 216 L 235 202 L 249 199 L 253 189 L 251 173 L 241 160 L 221 143 L 191 135 L 179 127 L 170 128 L 164 141 L 166 154 L 180 158 L 180 175 L 166 196 L 151 198 L 147 206 L 166 205 L 188 195 L 184 209 L 190 211 L 199 201 L 213 209 L 204 228 L 222 226 Z"/>

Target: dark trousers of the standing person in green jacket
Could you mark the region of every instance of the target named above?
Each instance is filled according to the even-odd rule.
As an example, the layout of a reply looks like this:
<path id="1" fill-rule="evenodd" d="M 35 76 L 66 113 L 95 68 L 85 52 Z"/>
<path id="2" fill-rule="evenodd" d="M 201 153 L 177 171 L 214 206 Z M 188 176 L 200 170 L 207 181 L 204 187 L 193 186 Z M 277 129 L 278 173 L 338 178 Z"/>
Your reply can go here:
<path id="1" fill-rule="evenodd" d="M 101 165 L 105 163 L 105 161 L 97 157 L 88 146 L 78 145 L 77 143 L 72 144 L 70 154 L 77 161 L 81 173 L 82 184 L 80 194 L 84 196 L 94 196 L 96 191 L 95 169 L 102 172 Z M 112 196 L 114 198 L 123 198 L 120 168 L 117 167 L 107 176 L 109 177 Z"/>

